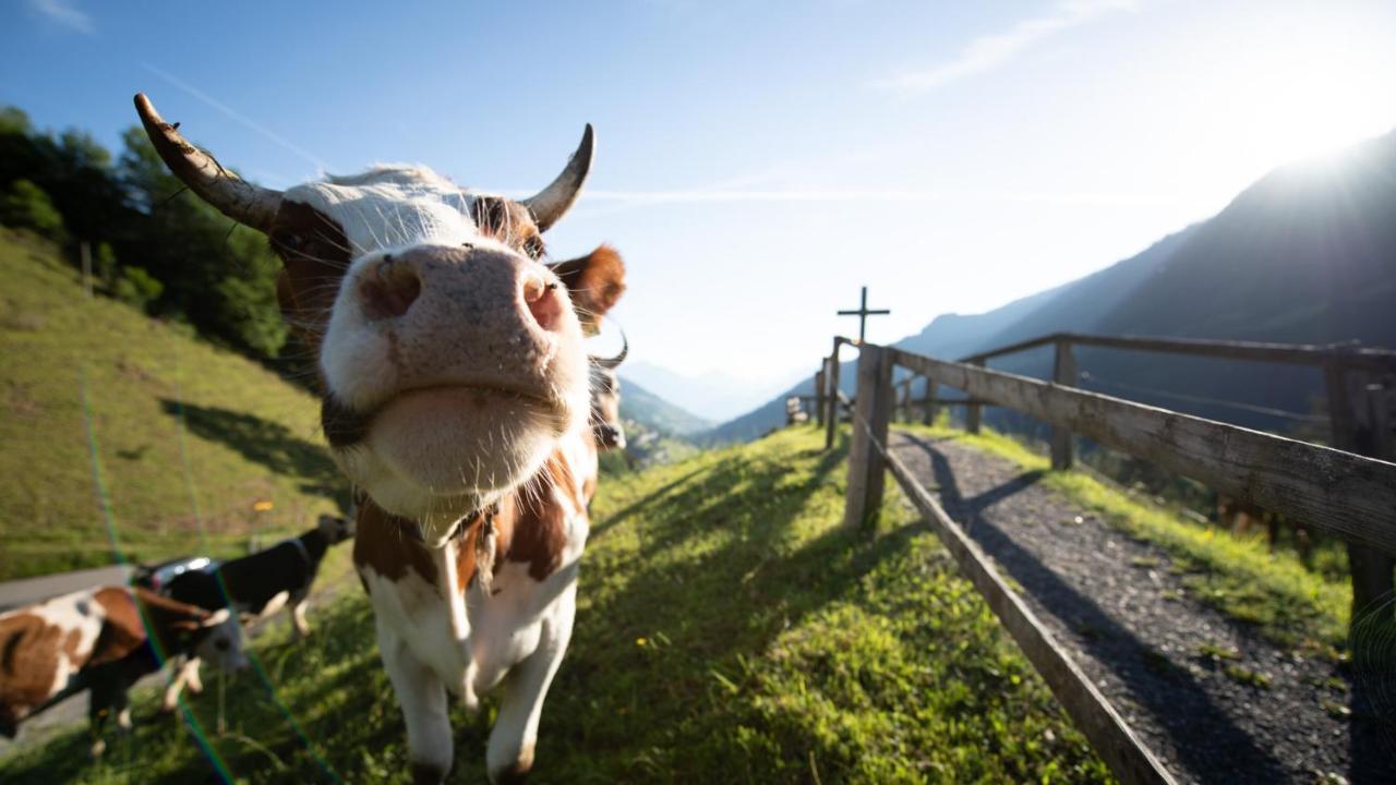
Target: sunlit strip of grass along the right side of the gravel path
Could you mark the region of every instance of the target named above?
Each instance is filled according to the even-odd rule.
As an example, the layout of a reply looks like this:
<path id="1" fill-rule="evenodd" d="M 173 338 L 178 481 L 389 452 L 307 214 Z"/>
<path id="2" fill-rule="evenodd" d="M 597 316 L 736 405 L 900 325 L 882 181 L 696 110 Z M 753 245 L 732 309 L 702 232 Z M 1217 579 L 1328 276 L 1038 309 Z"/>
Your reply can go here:
<path id="1" fill-rule="evenodd" d="M 905 427 L 905 426 L 900 426 Z M 1301 648 L 1342 648 L 1351 585 L 1343 575 L 1305 570 L 1291 555 L 1272 555 L 1259 532 L 1251 538 L 1198 525 L 1175 510 L 1121 493 L 1082 472 L 1050 472 L 1051 461 L 1023 444 L 986 430 L 970 436 L 949 427 L 910 426 L 948 436 L 1008 458 L 1025 471 L 1047 472 L 1048 487 L 1104 517 L 1132 536 L 1163 548 L 1187 591 L 1272 641 Z"/>

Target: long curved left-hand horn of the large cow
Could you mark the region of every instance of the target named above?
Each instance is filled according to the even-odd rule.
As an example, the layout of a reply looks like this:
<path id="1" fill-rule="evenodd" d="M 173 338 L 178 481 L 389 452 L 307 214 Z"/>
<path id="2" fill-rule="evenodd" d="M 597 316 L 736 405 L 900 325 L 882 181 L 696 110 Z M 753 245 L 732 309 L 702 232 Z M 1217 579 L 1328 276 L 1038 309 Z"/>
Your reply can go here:
<path id="1" fill-rule="evenodd" d="M 212 155 L 180 135 L 177 123 L 166 123 L 144 92 L 135 94 L 135 112 L 155 152 L 191 191 L 239 223 L 261 232 L 271 229 L 281 207 L 281 191 L 254 186 L 223 169 Z"/>

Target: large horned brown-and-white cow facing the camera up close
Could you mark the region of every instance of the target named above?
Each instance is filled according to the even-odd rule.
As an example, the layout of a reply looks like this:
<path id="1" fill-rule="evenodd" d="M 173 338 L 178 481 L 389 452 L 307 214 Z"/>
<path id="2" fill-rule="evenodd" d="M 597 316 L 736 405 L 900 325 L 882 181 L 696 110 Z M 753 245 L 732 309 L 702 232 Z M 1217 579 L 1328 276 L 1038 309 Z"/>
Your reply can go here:
<path id="1" fill-rule="evenodd" d="M 419 166 L 281 193 L 187 142 L 144 95 L 135 103 L 174 175 L 265 233 L 285 265 L 278 299 L 318 359 L 325 437 L 366 494 L 355 567 L 413 779 L 451 771 L 447 694 L 476 711 L 501 684 L 486 770 L 522 779 L 571 638 L 596 483 L 582 339 L 625 286 L 606 246 L 543 263 L 542 233 L 591 168 L 591 127 L 526 200 Z"/>

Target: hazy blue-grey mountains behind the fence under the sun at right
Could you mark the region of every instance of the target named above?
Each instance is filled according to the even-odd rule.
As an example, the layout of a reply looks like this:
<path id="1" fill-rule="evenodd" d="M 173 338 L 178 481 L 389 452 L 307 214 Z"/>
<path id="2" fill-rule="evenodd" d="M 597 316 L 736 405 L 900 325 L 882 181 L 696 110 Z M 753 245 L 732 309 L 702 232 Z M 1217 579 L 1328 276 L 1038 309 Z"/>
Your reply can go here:
<path id="1" fill-rule="evenodd" d="M 1340 155 L 1282 166 L 1217 215 L 1131 258 L 987 313 L 938 316 L 895 345 L 959 359 L 1074 331 L 1396 346 L 1393 172 L 1396 131 Z M 1249 427 L 1293 429 L 1323 397 L 1323 381 L 1312 369 L 1094 348 L 1078 348 L 1076 356 L 1089 373 L 1082 379 L 1087 390 Z M 1051 349 L 990 365 L 1046 377 Z M 852 363 L 840 370 L 840 386 L 852 394 Z M 786 395 L 811 391 L 812 381 L 801 381 L 719 425 L 705 440 L 758 437 L 785 422 Z"/>

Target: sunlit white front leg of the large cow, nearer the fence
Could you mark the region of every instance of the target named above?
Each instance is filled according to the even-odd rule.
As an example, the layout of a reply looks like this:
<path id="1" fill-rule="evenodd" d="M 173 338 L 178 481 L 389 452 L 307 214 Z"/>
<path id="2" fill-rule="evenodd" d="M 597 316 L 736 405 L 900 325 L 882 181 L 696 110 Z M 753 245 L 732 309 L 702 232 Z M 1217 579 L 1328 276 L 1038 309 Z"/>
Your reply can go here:
<path id="1" fill-rule="evenodd" d="M 533 768 L 533 747 L 537 743 L 537 721 L 543 715 L 543 698 L 557 675 L 572 638 L 572 617 L 577 612 L 577 582 L 557 599 L 558 613 L 544 623 L 537 651 L 510 669 L 500 698 L 500 714 L 490 731 L 490 744 L 484 753 L 490 782 L 525 782 Z"/>

